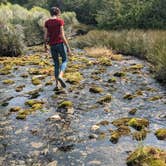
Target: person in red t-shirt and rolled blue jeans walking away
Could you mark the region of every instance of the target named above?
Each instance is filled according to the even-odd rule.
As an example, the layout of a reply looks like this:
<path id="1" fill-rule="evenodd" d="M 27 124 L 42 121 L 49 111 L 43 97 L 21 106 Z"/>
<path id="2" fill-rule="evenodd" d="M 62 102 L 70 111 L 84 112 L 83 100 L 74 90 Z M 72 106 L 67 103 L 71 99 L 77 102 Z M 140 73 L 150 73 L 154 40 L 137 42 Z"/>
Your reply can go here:
<path id="1" fill-rule="evenodd" d="M 64 32 L 64 20 L 59 18 L 61 11 L 57 7 L 50 9 L 51 18 L 44 25 L 44 47 L 48 52 L 47 44 L 50 45 L 51 55 L 54 61 L 54 74 L 56 88 L 58 82 L 63 88 L 66 87 L 63 75 L 67 67 L 67 55 L 71 55 L 71 49 Z M 62 58 L 62 64 L 59 64 L 59 56 Z"/>

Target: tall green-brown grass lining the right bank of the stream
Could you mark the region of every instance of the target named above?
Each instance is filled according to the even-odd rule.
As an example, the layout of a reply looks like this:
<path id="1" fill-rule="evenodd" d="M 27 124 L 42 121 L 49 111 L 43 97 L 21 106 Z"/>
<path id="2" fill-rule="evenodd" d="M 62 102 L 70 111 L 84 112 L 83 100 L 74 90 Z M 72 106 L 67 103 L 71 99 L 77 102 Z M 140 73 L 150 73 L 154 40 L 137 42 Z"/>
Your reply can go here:
<path id="1" fill-rule="evenodd" d="M 156 78 L 166 82 L 166 31 L 90 31 L 77 37 L 72 45 L 84 47 L 107 47 L 126 55 L 147 59 L 153 64 Z"/>

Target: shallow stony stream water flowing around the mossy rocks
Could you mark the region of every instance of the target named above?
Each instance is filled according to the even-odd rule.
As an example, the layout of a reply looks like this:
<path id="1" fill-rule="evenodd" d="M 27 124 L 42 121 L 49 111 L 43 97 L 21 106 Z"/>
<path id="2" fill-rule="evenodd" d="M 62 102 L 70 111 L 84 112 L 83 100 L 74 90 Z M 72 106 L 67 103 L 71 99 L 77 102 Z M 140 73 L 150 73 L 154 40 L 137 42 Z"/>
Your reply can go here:
<path id="1" fill-rule="evenodd" d="M 129 153 L 138 146 L 166 149 L 166 142 L 154 134 L 166 127 L 166 90 L 152 78 L 148 63 L 126 56 L 121 61 L 112 61 L 111 65 L 75 50 L 67 72 L 71 75 L 79 72 L 81 79 L 68 80 L 65 90 L 55 91 L 54 81 L 52 85 L 48 83 L 51 76 L 47 72 L 30 72 L 30 68 L 41 71 L 47 64 L 52 65 L 51 58 L 36 54 L 39 63 L 32 63 L 33 58 L 31 63 L 15 63 L 11 73 L 0 77 L 0 165 L 124 166 Z M 12 59 L 1 59 L 1 68 L 10 63 Z M 136 64 L 143 66 L 133 71 L 131 66 Z M 121 75 L 115 74 L 122 71 Z M 28 75 L 21 76 L 25 73 Z M 32 77 L 41 78 L 41 75 L 44 78 L 39 85 L 33 85 Z M 109 81 L 110 78 L 115 81 Z M 5 84 L 4 80 L 8 79 L 14 82 Z M 23 88 L 16 91 L 19 85 Z M 94 85 L 102 91 L 90 92 Z M 33 96 L 29 92 L 34 90 L 37 92 Z M 111 100 L 97 102 L 108 94 Z M 125 98 L 126 94 L 134 96 Z M 25 102 L 30 99 L 42 100 L 42 108 L 28 113 L 23 120 L 16 119 L 19 113 L 11 108 L 26 109 Z M 61 101 L 71 101 L 73 107 L 58 108 Z M 132 109 L 136 110 L 135 115 L 129 114 Z M 111 142 L 111 131 L 116 129 L 111 122 L 123 117 L 149 120 L 146 138 L 137 141 L 129 134 L 120 137 L 117 143 Z M 108 123 L 98 125 L 102 121 Z M 95 129 L 94 125 L 99 128 Z"/>

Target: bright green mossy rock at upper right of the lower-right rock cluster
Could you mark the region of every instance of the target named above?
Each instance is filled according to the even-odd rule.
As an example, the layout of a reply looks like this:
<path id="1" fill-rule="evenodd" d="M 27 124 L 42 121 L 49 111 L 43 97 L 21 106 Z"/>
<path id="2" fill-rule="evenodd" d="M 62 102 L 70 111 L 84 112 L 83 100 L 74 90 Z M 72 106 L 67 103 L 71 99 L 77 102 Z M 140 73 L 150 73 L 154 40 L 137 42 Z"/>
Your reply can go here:
<path id="1" fill-rule="evenodd" d="M 128 125 L 136 130 L 142 130 L 149 126 L 149 121 L 144 118 L 132 118 L 129 120 Z"/>

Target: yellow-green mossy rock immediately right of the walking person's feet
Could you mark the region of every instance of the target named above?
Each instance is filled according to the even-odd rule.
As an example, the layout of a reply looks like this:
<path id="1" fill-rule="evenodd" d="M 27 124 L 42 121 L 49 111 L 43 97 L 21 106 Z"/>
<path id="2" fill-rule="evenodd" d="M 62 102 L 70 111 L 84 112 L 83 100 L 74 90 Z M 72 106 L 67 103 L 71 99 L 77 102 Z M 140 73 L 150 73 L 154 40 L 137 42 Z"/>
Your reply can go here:
<path id="1" fill-rule="evenodd" d="M 79 72 L 75 72 L 75 73 L 66 73 L 65 78 L 66 82 L 70 84 L 78 84 L 83 79 L 83 76 Z"/>

